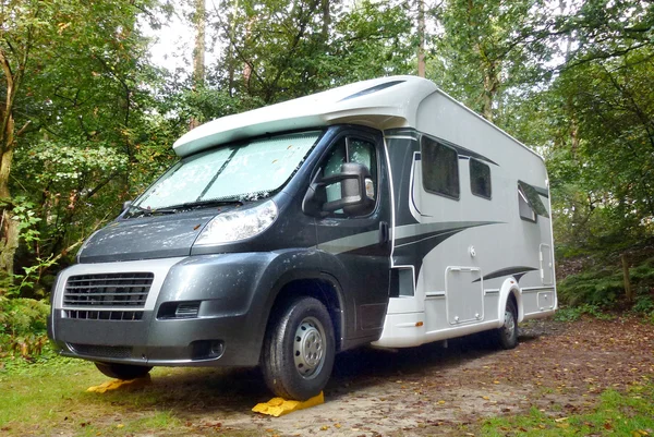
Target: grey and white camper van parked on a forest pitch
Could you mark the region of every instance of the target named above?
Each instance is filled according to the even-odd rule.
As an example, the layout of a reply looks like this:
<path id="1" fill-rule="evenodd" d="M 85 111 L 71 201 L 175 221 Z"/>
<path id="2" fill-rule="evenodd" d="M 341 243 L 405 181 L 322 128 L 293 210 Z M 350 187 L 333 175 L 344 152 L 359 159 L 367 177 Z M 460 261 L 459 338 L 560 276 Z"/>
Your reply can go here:
<path id="1" fill-rule="evenodd" d="M 487 331 L 557 307 L 543 159 L 413 76 L 223 117 L 84 243 L 52 292 L 65 356 L 261 366 L 320 392 L 335 355 Z"/>

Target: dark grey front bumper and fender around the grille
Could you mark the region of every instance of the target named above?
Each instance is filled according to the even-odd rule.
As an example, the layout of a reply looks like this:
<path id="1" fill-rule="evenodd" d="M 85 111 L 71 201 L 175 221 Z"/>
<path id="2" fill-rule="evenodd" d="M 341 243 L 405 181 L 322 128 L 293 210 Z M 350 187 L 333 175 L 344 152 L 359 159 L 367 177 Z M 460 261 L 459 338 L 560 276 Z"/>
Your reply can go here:
<path id="1" fill-rule="evenodd" d="M 65 317 L 61 291 L 52 303 L 52 340 L 63 354 L 94 361 L 141 363 L 148 365 L 239 365 L 258 364 L 259 351 L 271 301 L 284 281 L 296 277 L 319 276 L 320 256 L 316 250 L 203 255 L 174 259 L 168 268 L 155 272 L 157 283 L 150 289 L 140 320 L 81 320 Z M 58 283 L 83 274 L 88 265 L 64 270 Z M 107 263 L 94 271 L 153 270 L 152 260 Z M 164 278 L 161 278 L 164 277 Z M 167 302 L 199 302 L 197 317 L 165 319 L 161 305 Z M 119 309 L 119 308 L 113 308 Z M 194 356 L 198 341 L 221 341 L 222 355 L 207 360 Z M 96 345 L 106 355 L 84 355 L 74 344 Z M 71 347 L 72 345 L 72 347 Z M 129 356 L 112 356 L 112 350 L 130 350 Z"/>

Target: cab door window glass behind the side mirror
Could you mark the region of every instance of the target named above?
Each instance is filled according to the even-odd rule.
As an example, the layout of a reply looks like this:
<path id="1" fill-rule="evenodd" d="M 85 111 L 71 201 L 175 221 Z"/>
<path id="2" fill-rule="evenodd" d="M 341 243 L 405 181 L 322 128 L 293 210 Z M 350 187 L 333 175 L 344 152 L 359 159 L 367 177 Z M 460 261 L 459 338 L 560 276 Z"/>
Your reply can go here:
<path id="1" fill-rule="evenodd" d="M 334 145 L 325 163 L 323 165 L 323 175 L 329 177 L 340 173 L 341 166 L 344 162 L 361 163 L 371 171 L 373 180 L 373 190 L 377 193 L 377 155 L 375 145 L 368 141 L 343 137 Z M 327 202 L 338 201 L 341 197 L 340 182 L 334 183 L 326 187 Z M 339 211 L 337 211 L 338 214 Z"/>

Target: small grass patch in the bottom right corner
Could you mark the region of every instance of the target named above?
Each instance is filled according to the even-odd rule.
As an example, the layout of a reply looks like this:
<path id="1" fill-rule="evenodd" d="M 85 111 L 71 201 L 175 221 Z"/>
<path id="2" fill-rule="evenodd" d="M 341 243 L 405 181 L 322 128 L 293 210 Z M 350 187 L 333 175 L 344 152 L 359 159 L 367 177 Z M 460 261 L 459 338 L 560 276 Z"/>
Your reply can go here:
<path id="1" fill-rule="evenodd" d="M 482 436 L 652 436 L 654 385 L 633 386 L 626 393 L 607 390 L 590 412 L 557 417 L 533 408 L 529 414 L 493 417 Z"/>

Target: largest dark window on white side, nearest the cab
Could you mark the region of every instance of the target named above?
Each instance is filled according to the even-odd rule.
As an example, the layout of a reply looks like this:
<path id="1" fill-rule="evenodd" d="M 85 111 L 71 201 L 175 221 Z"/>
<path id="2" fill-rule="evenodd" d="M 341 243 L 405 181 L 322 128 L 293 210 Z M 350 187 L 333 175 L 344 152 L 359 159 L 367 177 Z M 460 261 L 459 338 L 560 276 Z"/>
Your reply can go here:
<path id="1" fill-rule="evenodd" d="M 426 136 L 421 141 L 425 191 L 459 199 L 459 156 L 457 150 Z"/>

